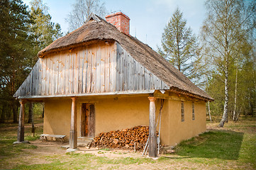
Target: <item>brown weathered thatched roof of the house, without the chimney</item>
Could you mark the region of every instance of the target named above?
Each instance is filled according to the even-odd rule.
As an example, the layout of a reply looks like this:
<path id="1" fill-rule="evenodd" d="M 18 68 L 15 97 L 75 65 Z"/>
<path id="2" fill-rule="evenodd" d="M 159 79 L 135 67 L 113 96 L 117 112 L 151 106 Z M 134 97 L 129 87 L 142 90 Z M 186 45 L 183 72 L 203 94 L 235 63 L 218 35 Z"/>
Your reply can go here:
<path id="1" fill-rule="evenodd" d="M 69 49 L 98 40 L 116 40 L 135 60 L 143 64 L 162 81 L 165 81 L 170 86 L 171 91 L 204 100 L 213 100 L 211 96 L 194 85 L 151 47 L 140 42 L 137 38 L 121 33 L 115 26 L 96 15 L 91 15 L 82 27 L 55 40 L 38 52 L 38 57 L 43 57 L 55 50 Z"/>

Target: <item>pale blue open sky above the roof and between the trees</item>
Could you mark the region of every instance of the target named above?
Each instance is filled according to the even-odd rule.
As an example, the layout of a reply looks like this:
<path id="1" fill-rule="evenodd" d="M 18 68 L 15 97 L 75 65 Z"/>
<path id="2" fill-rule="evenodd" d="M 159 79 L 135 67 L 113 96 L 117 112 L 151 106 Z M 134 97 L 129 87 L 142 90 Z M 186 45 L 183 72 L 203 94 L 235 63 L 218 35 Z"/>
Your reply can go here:
<path id="1" fill-rule="evenodd" d="M 49 7 L 52 21 L 60 23 L 62 31 L 67 32 L 65 18 L 72 11 L 75 0 L 43 0 Z M 193 33 L 198 35 L 204 21 L 204 0 L 102 0 L 108 12 L 123 11 L 130 18 L 130 35 L 133 35 L 157 50 L 161 46 L 161 37 L 169 18 L 177 6 L 187 19 Z M 29 4 L 30 0 L 23 0 Z"/>

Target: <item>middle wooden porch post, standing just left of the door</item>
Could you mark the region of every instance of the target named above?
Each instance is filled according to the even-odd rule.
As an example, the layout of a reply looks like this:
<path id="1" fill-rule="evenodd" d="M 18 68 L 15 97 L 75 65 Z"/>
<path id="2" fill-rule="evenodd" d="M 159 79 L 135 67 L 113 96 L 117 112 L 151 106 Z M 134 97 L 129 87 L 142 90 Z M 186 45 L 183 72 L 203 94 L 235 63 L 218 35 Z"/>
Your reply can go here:
<path id="1" fill-rule="evenodd" d="M 77 148 L 77 97 L 72 97 L 69 149 Z"/>

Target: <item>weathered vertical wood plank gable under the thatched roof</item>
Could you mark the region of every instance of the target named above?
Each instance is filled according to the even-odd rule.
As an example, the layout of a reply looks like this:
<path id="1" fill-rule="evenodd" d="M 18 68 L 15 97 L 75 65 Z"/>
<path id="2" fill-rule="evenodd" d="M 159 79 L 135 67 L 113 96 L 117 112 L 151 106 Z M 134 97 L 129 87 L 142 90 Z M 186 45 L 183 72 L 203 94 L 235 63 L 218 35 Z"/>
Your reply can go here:
<path id="1" fill-rule="evenodd" d="M 118 42 L 88 45 L 40 58 L 16 91 L 21 96 L 101 94 L 169 89 Z"/>

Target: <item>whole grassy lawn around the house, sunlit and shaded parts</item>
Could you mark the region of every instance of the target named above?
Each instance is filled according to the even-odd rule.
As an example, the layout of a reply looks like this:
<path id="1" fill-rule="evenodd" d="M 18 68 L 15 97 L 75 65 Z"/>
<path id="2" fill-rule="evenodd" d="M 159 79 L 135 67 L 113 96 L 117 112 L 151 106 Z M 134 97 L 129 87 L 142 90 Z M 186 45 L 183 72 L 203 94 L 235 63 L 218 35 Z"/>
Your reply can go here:
<path id="1" fill-rule="evenodd" d="M 229 122 L 224 128 L 208 124 L 208 131 L 181 142 L 174 154 L 157 160 L 141 153 L 111 149 L 65 154 L 60 142 L 40 142 L 42 123 L 35 137 L 26 125 L 31 144 L 13 145 L 17 125 L 0 124 L 0 169 L 256 169 L 255 118 Z"/>

